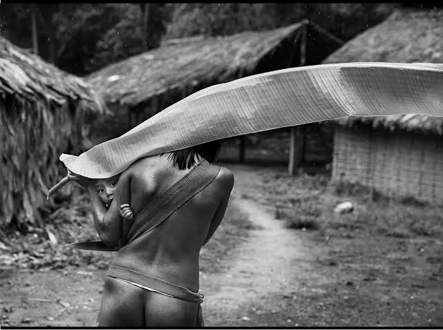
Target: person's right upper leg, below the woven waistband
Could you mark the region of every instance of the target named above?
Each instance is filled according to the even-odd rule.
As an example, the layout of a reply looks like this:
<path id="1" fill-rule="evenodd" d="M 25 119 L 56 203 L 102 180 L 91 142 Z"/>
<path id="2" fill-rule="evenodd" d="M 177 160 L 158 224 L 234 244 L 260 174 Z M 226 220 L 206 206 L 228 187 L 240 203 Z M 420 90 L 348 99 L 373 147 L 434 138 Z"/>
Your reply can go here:
<path id="1" fill-rule="evenodd" d="M 146 291 L 144 322 L 147 327 L 195 327 L 198 302 Z"/>

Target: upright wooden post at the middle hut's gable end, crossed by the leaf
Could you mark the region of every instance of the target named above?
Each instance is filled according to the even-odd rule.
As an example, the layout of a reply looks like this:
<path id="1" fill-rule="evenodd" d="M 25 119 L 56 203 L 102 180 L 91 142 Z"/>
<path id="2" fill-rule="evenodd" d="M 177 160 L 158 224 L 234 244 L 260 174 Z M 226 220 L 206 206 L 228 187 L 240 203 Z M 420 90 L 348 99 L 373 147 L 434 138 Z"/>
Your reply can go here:
<path id="1" fill-rule="evenodd" d="M 301 32 L 300 40 L 300 63 L 299 66 L 304 66 L 306 64 L 306 35 L 308 30 L 306 24 L 303 26 L 303 31 Z M 305 153 L 305 130 L 302 126 L 293 126 L 290 129 L 290 151 L 289 151 L 289 162 L 288 162 L 288 172 L 290 175 L 295 175 L 299 172 L 299 168 L 303 163 L 304 153 Z"/>

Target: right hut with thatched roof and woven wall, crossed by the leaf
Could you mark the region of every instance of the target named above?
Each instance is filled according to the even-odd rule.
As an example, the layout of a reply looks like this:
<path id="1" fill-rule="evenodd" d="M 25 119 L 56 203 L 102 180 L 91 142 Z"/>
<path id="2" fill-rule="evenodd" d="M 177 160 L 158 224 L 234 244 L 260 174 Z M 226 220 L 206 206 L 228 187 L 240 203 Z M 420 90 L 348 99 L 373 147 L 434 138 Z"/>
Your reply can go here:
<path id="1" fill-rule="evenodd" d="M 366 30 L 323 63 L 443 63 L 443 10 L 403 9 Z M 332 180 L 443 204 L 443 119 L 426 115 L 336 121 Z"/>

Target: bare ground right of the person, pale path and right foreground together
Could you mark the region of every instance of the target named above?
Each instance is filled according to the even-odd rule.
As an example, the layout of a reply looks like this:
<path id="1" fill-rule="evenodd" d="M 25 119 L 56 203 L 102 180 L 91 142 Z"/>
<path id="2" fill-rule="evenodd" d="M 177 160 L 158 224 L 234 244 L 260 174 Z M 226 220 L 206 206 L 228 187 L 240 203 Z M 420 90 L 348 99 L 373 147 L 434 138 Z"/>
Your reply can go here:
<path id="1" fill-rule="evenodd" d="M 274 220 L 263 185 L 270 170 L 231 168 L 234 195 L 263 230 L 238 246 L 226 273 L 202 279 L 208 325 L 442 326 L 441 253 L 424 254 L 441 250 L 441 240 L 290 230 Z"/>

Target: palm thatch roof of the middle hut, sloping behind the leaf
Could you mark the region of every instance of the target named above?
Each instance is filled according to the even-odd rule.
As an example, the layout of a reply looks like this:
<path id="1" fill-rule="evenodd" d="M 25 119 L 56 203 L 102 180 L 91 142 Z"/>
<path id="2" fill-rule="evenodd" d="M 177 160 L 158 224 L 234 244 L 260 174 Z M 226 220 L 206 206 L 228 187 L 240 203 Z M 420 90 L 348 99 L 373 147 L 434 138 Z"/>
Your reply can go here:
<path id="1" fill-rule="evenodd" d="M 299 66 L 297 50 L 303 33 L 307 34 L 305 64 L 318 64 L 343 44 L 306 20 L 263 32 L 166 41 L 160 48 L 93 72 L 86 80 L 107 104 L 136 106 L 165 93 L 171 99 L 174 91 L 184 97 L 211 84 Z"/>

